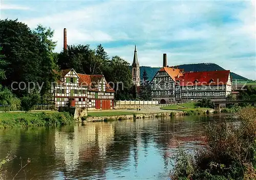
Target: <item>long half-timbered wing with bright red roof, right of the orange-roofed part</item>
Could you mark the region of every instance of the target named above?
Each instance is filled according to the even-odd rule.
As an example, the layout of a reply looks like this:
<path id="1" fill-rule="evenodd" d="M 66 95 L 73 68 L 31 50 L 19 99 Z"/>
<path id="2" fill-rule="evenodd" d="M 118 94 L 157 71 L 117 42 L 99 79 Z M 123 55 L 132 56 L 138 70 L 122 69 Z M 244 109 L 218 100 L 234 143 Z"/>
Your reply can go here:
<path id="1" fill-rule="evenodd" d="M 176 100 L 225 100 L 231 94 L 230 71 L 188 72 L 176 79 Z"/>

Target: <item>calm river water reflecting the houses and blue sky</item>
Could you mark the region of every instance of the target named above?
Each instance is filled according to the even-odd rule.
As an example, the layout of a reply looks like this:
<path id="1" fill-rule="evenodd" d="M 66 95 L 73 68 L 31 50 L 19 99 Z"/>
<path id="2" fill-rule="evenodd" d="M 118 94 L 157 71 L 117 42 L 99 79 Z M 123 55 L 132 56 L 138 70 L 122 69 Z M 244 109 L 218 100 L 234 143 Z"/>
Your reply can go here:
<path id="1" fill-rule="evenodd" d="M 185 116 L 2 129 L 0 159 L 21 157 L 18 179 L 168 179 L 170 156 L 177 146 L 205 146 L 205 124 L 224 116 Z M 8 177 L 20 168 L 15 159 Z"/>

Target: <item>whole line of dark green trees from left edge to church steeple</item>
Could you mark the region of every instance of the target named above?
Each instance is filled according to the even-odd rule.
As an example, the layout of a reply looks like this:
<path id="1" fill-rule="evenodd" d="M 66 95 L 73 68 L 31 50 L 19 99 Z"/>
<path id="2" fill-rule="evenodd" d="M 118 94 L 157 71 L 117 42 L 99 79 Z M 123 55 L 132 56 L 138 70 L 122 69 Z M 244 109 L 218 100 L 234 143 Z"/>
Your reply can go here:
<path id="1" fill-rule="evenodd" d="M 53 36 L 54 30 L 42 25 L 31 30 L 18 19 L 0 20 L 0 104 L 16 107 L 32 102 L 32 99 L 32 104 L 48 103 L 51 82 L 60 75 L 56 71 L 68 68 L 82 74 L 103 74 L 106 81 L 115 83 L 117 100 L 148 99 L 145 96 L 148 85 L 140 93 L 134 91 L 130 64 L 126 60 L 119 56 L 109 57 L 101 44 L 96 49 L 90 44 L 71 45 L 56 53 L 57 42 L 53 41 Z M 28 89 L 29 82 L 43 85 L 32 92 Z M 117 82 L 123 84 L 119 89 Z"/>

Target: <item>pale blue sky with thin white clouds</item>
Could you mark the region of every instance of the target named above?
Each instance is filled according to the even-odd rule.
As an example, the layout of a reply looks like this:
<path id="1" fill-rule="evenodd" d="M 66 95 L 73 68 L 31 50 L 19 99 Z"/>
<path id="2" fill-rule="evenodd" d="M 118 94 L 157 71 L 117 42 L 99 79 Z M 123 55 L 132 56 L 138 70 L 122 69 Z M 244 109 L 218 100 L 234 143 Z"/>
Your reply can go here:
<path id="1" fill-rule="evenodd" d="M 16 19 L 31 29 L 54 30 L 56 52 L 68 45 L 102 44 L 111 56 L 130 63 L 134 46 L 140 65 L 211 62 L 256 79 L 255 0 L 249 1 L 5 1 L 0 18 Z"/>

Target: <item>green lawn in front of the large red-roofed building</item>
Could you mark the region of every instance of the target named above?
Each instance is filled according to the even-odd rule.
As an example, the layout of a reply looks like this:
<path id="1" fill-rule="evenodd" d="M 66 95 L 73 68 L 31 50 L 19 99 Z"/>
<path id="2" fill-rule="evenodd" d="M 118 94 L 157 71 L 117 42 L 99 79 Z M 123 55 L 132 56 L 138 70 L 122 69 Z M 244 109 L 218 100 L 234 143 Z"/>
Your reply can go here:
<path id="1" fill-rule="evenodd" d="M 189 110 L 205 110 L 210 108 L 200 107 L 198 108 L 197 103 L 183 103 L 179 105 L 169 105 L 160 107 L 164 110 L 182 110 L 182 111 L 189 111 Z"/>

